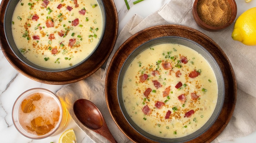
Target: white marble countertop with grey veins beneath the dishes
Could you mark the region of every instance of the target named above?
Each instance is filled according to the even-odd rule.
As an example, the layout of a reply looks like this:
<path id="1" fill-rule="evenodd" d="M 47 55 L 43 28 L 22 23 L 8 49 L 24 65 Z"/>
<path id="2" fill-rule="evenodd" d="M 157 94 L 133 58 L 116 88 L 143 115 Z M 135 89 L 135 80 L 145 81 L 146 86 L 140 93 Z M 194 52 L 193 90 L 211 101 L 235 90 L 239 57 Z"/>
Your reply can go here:
<path id="1" fill-rule="evenodd" d="M 0 2 L 1 1 L 2 0 L 0 0 Z M 130 9 L 127 10 L 124 0 L 114 0 L 118 12 L 118 33 L 134 14 L 139 14 L 140 16 L 145 18 L 146 16 L 157 11 L 162 5 L 168 3 L 170 0 L 144 0 L 136 5 L 133 5 L 133 1 L 135 0 L 128 0 Z M 256 0 L 252 0 L 250 3 L 245 3 L 244 0 L 236 0 L 236 3 L 238 9 L 237 17 L 241 15 L 245 10 L 256 7 Z M 11 110 L 16 98 L 27 89 L 42 87 L 56 93 L 61 87 L 65 85 L 47 85 L 33 81 L 32 79 L 16 71 L 7 61 L 2 52 L 0 52 L 0 79 L 0 142 L 57 143 L 61 134 L 41 140 L 32 140 L 21 135 L 12 123 Z M 78 143 L 93 142 L 87 135 L 85 135 L 82 130 L 80 130 L 80 128 L 73 121 L 73 119 L 71 119 L 67 129 L 69 128 L 73 128 L 75 130 Z M 256 132 L 246 137 L 224 142 L 255 142 L 255 140 Z"/>

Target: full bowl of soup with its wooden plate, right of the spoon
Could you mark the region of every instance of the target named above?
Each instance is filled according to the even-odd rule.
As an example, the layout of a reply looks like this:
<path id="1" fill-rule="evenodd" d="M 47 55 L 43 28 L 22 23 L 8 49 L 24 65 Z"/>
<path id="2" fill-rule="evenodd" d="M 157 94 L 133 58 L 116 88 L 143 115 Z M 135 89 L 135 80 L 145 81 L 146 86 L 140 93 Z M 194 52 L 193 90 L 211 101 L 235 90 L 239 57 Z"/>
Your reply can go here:
<path id="1" fill-rule="evenodd" d="M 134 142 L 212 141 L 226 126 L 220 120 L 232 116 L 226 105 L 233 110 L 235 104 L 228 63 L 219 46 L 195 29 L 159 25 L 142 30 L 120 46 L 110 63 L 109 111 Z M 230 85 L 226 78 L 232 79 Z"/>

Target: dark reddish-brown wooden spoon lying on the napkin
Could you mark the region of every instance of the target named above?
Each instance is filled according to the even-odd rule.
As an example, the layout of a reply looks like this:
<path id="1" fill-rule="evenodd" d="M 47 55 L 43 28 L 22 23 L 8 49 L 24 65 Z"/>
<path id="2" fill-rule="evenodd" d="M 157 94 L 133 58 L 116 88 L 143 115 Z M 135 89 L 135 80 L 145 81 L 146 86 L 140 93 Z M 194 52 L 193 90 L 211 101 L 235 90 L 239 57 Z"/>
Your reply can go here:
<path id="1" fill-rule="evenodd" d="M 102 135 L 111 143 L 117 143 L 97 106 L 87 99 L 78 99 L 73 107 L 77 119 L 88 129 Z"/>

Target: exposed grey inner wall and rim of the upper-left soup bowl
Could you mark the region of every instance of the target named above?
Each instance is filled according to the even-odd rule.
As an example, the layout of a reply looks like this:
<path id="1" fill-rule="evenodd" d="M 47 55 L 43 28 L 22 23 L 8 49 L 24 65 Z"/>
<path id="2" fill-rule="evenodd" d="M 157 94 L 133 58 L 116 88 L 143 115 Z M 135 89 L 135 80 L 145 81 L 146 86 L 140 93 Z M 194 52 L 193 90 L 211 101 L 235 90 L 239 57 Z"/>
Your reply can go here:
<path id="1" fill-rule="evenodd" d="M 11 22 L 12 22 L 12 14 L 13 14 L 13 11 L 16 7 L 16 5 L 18 4 L 20 0 L 10 0 L 8 2 L 8 5 L 6 7 L 6 11 L 5 11 L 5 16 L 4 16 L 4 32 L 5 32 L 5 37 L 6 37 L 6 40 L 12 50 L 12 52 L 14 53 L 15 56 L 18 57 L 19 60 L 21 60 L 24 64 L 28 65 L 29 67 L 33 68 L 33 69 L 36 69 L 36 70 L 39 70 L 39 71 L 47 71 L 47 72 L 61 72 L 61 71 L 68 71 L 68 70 L 71 70 L 71 69 L 74 69 L 78 66 L 80 66 L 81 64 L 83 64 L 84 62 L 86 62 L 90 56 L 97 50 L 98 46 L 100 45 L 101 41 L 102 41 L 102 37 L 104 36 L 104 33 L 105 33 L 105 25 L 106 25 L 106 10 L 105 10 L 105 7 L 104 7 L 104 4 L 102 2 L 102 0 L 97 0 L 98 3 L 99 3 L 99 7 L 101 9 L 101 12 L 102 12 L 102 22 L 103 22 L 103 30 L 102 30 L 102 36 L 99 40 L 99 43 L 97 44 L 97 47 L 94 49 L 94 51 L 87 57 L 85 58 L 83 61 L 81 61 L 80 63 L 74 65 L 74 66 L 71 66 L 69 68 L 63 68 L 63 69 L 50 69 L 50 68 L 44 68 L 44 67 L 40 67 L 36 64 L 33 64 L 31 61 L 29 61 L 27 58 L 25 58 L 19 51 L 19 49 L 17 48 L 14 40 L 13 40 L 13 37 L 12 37 L 12 30 L 11 30 Z"/>

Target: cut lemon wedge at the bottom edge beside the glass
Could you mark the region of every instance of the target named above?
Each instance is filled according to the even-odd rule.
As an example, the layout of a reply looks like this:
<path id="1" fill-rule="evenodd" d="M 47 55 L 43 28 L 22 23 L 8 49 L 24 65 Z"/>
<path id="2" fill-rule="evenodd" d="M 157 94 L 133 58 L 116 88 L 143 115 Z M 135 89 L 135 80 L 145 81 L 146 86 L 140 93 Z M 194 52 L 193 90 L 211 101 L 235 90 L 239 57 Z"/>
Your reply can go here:
<path id="1" fill-rule="evenodd" d="M 73 129 L 68 129 L 59 138 L 59 143 L 76 143 L 75 132 Z"/>

